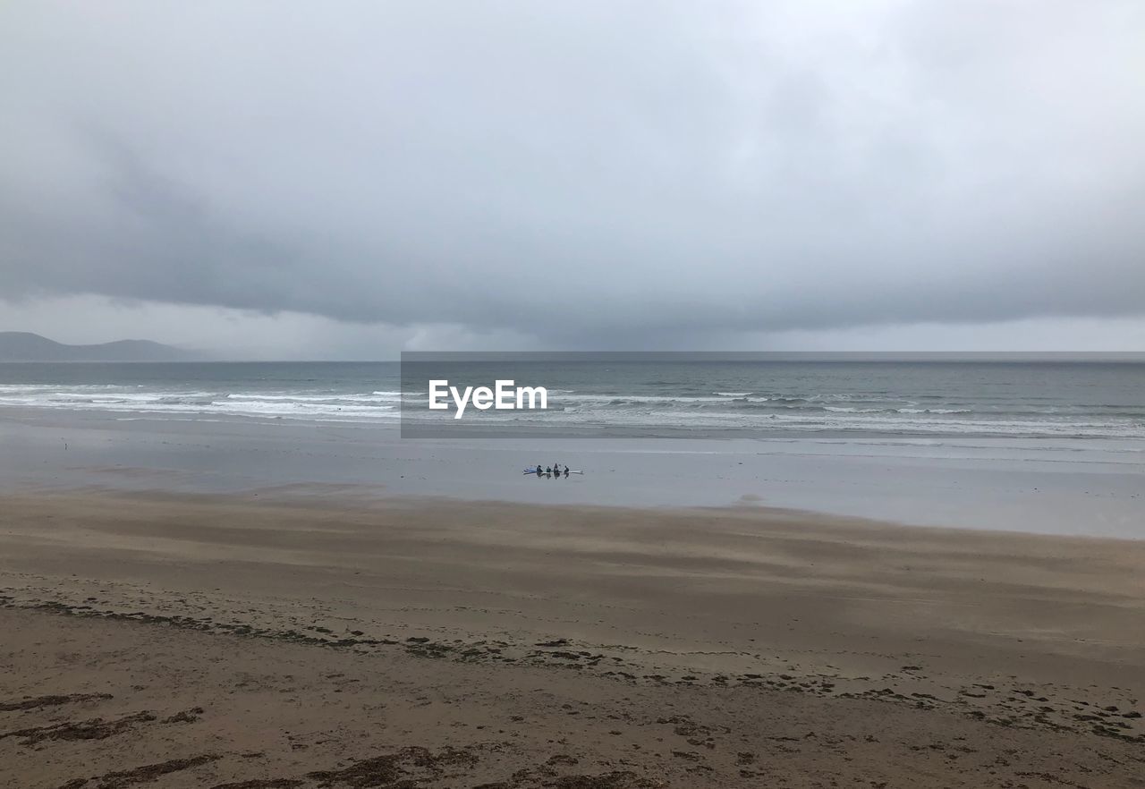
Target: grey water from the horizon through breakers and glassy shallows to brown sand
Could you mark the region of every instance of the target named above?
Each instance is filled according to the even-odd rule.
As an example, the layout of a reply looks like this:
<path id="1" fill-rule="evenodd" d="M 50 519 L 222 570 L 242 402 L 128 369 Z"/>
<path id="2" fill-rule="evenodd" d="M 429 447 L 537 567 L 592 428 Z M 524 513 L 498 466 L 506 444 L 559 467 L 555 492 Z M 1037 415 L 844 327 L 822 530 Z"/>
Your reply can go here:
<path id="1" fill-rule="evenodd" d="M 410 370 L 0 364 L 0 490 L 763 505 L 1145 538 L 1139 361 L 465 360 L 441 374 L 550 394 L 460 434 Z M 584 474 L 522 475 L 550 463 Z"/>

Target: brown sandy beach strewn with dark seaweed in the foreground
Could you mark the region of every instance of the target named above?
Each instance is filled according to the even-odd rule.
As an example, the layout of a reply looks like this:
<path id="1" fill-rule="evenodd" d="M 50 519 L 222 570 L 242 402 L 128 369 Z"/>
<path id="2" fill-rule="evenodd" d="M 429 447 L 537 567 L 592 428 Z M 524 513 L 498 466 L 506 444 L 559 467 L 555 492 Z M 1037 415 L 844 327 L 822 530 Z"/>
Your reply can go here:
<path id="1" fill-rule="evenodd" d="M 1143 787 L 1145 543 L 0 498 L 0 786 Z"/>

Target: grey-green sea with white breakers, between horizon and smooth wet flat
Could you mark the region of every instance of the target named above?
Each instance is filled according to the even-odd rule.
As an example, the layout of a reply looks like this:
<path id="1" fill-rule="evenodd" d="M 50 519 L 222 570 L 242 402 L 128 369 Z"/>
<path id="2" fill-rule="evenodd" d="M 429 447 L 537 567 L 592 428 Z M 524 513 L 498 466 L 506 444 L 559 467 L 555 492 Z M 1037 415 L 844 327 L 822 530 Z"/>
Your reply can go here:
<path id="1" fill-rule="evenodd" d="M 1105 439 L 1145 448 L 1145 363 L 554 362 L 474 368 L 466 382 L 547 386 L 545 426 L 785 434 Z M 118 419 L 397 425 L 441 418 L 396 362 L 0 364 L 0 409 Z M 447 417 L 448 418 L 448 417 Z"/>

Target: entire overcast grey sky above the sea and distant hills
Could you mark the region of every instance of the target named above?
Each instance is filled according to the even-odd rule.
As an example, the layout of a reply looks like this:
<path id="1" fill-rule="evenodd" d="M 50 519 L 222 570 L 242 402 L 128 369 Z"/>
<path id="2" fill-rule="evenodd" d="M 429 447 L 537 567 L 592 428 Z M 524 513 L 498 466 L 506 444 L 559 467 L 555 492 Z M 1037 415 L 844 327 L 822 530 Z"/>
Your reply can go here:
<path id="1" fill-rule="evenodd" d="M 1145 3 L 0 3 L 0 330 L 1145 350 Z"/>

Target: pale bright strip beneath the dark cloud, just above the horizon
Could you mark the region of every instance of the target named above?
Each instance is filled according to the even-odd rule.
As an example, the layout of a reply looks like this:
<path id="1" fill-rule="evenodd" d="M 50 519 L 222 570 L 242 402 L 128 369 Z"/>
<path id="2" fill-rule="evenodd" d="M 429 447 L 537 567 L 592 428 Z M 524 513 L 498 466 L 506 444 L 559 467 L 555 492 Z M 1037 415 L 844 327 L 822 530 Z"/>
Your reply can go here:
<path id="1" fill-rule="evenodd" d="M 1027 318 L 994 323 L 915 323 L 779 332 L 706 331 L 613 338 L 586 346 L 527 332 L 456 323 L 352 324 L 302 313 L 167 305 L 103 297 L 0 300 L 0 331 L 33 331 L 62 342 L 139 338 L 227 360 L 395 360 L 402 350 L 898 350 L 1139 352 L 1145 318 Z M 602 341 L 601 341 L 602 342 Z"/>

